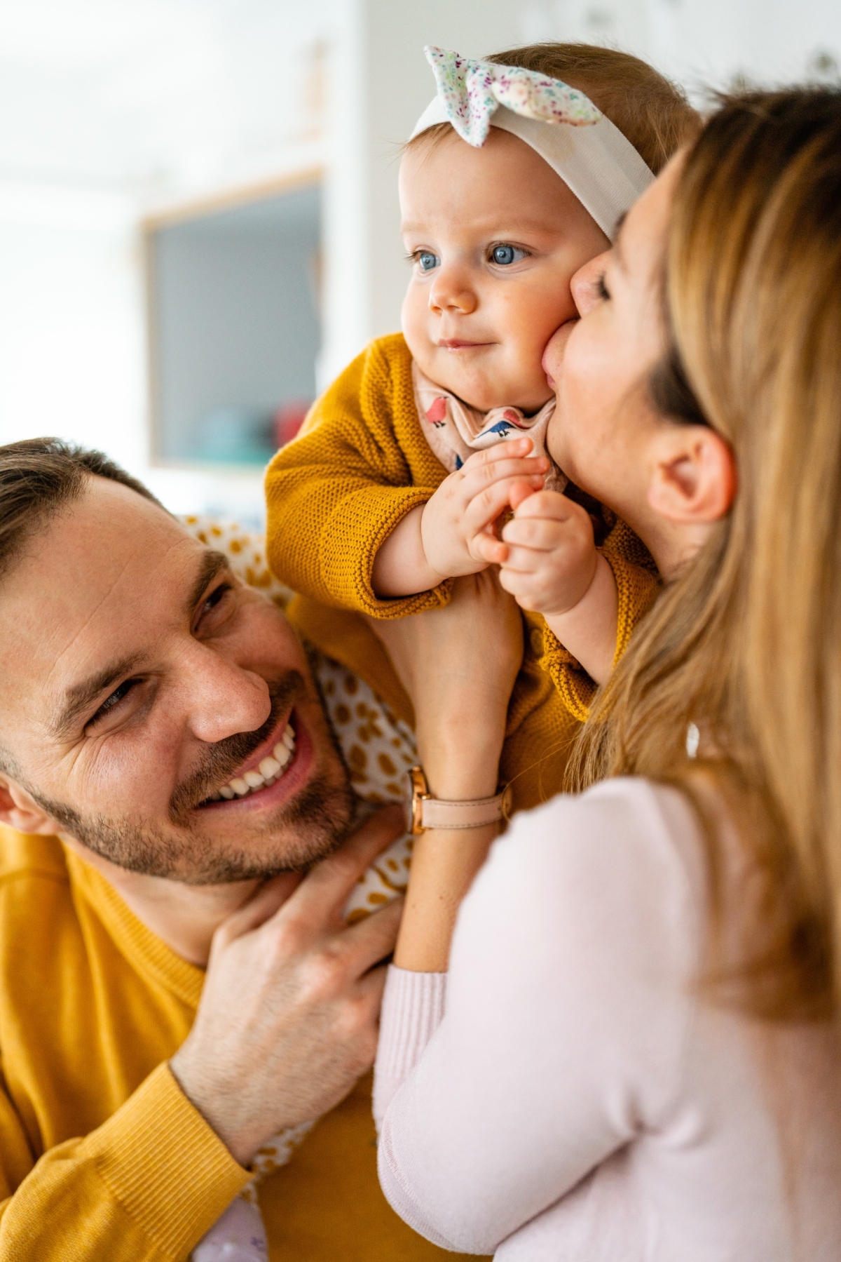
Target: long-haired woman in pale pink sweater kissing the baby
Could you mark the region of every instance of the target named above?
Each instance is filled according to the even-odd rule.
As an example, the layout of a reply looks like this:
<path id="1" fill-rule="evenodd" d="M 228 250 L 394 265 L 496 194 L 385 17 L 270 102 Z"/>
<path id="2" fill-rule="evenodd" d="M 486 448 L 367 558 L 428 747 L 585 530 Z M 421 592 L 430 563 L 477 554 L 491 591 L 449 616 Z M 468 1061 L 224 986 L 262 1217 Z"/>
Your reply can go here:
<path id="1" fill-rule="evenodd" d="M 585 780 L 618 779 L 518 817 L 449 977 L 492 829 L 419 838 L 380 1170 L 445 1247 L 841 1257 L 840 153 L 838 93 L 728 103 L 547 351 L 561 464 L 668 587 L 580 751 Z M 516 634 L 489 589 L 461 593 L 494 645 L 480 687 L 469 635 L 446 632 L 431 697 L 435 635 L 390 628 L 438 798 L 494 787 Z"/>

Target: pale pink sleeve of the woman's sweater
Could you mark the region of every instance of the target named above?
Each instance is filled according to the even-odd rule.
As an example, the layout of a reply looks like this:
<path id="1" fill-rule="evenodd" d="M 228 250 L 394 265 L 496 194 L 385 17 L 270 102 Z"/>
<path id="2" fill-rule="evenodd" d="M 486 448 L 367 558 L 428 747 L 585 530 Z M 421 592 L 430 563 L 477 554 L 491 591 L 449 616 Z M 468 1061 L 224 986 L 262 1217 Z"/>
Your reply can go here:
<path id="1" fill-rule="evenodd" d="M 421 1235 L 493 1253 L 671 1116 L 700 959 L 696 837 L 675 790 L 614 780 L 494 843 L 459 912 L 444 1018 L 429 1037 L 421 983 L 383 1021 L 380 1063 L 402 1058 L 403 1079 L 380 1180 Z"/>

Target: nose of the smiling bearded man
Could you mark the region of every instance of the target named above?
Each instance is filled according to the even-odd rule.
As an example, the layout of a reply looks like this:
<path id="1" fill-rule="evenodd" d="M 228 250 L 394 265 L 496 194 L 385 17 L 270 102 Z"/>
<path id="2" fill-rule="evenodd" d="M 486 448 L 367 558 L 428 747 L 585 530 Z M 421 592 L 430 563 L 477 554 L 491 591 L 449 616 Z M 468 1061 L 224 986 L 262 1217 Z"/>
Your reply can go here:
<path id="1" fill-rule="evenodd" d="M 271 713 L 266 680 L 208 645 L 190 646 L 182 683 L 190 731 L 208 745 L 237 732 L 253 732 Z"/>

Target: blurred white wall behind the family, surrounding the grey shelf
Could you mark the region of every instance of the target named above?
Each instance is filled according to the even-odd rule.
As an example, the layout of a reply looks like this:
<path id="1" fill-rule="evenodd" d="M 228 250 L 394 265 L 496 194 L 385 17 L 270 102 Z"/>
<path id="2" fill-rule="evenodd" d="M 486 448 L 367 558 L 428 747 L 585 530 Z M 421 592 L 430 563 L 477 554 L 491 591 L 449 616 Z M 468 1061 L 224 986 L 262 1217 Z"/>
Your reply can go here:
<path id="1" fill-rule="evenodd" d="M 150 469 L 144 215 L 325 162 L 329 376 L 397 327 L 398 145 L 424 43 L 627 47 L 685 82 L 833 76 L 838 0 L 0 0 L 0 442 L 105 447 L 179 511 L 257 478 Z"/>

